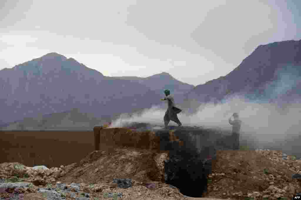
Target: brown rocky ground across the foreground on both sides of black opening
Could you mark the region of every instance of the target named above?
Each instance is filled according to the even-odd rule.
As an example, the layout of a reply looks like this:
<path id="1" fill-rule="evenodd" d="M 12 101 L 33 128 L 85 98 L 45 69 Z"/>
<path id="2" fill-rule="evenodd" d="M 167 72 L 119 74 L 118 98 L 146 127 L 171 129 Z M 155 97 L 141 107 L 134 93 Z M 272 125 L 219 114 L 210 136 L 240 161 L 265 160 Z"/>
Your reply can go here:
<path id="1" fill-rule="evenodd" d="M 147 170 L 150 159 L 160 166 L 166 154 L 135 149 L 116 149 L 112 154 L 95 151 L 78 164 L 51 169 L 2 163 L 0 199 L 194 199 L 160 180 L 149 179 L 154 173 Z M 277 151 L 218 151 L 205 197 L 289 199 L 301 192 L 298 180 L 292 179 L 300 169 L 301 160 Z M 124 179 L 127 177 L 130 179 Z"/>

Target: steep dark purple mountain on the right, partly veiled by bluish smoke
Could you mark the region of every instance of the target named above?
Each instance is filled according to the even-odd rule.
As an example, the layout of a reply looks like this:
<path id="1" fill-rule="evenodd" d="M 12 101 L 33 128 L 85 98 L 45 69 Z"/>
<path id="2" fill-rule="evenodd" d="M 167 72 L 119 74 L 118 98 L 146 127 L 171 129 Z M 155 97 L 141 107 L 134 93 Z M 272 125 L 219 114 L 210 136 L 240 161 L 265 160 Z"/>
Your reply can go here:
<path id="1" fill-rule="evenodd" d="M 301 97 L 301 40 L 259 45 L 225 76 L 197 85 L 183 96 L 186 106 L 220 102 L 233 94 L 251 100 L 289 101 Z M 293 97 L 292 97 L 293 95 Z"/>

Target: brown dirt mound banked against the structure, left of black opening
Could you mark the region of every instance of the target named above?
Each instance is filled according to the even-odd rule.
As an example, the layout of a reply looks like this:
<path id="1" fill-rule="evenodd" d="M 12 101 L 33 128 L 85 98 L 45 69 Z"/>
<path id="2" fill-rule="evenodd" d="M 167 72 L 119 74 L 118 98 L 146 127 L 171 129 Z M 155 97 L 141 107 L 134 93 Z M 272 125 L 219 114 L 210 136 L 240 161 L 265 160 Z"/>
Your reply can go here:
<path id="1" fill-rule="evenodd" d="M 114 178 L 138 182 L 163 181 L 167 153 L 146 149 L 120 148 L 111 152 L 94 151 L 78 167 L 58 180 L 64 183 L 110 183 Z M 91 173 L 92 172 L 92 173 Z"/>

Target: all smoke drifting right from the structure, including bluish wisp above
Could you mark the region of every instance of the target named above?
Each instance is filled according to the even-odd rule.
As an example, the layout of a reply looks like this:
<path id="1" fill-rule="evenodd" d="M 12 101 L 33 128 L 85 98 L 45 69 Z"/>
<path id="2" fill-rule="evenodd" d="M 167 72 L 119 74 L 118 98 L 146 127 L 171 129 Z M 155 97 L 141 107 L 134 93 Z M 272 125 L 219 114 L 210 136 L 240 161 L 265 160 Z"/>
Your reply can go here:
<path id="1" fill-rule="evenodd" d="M 254 95 L 257 96 L 257 99 L 250 98 L 252 95 L 248 95 L 248 97 L 235 95 L 218 104 L 200 104 L 195 114 L 185 114 L 189 112 L 183 110 L 178 114 L 178 118 L 183 126 L 216 127 L 229 131 L 232 127 L 228 123 L 228 118 L 237 112 L 242 120 L 242 140 L 253 138 L 259 147 L 269 143 L 278 149 L 299 152 L 296 150 L 297 148 L 293 150 L 293 145 L 299 146 L 301 141 L 296 141 L 293 138 L 298 138 L 301 135 L 301 95 L 298 93 L 299 90 L 294 91 L 299 99 L 294 97 L 293 103 L 281 102 L 282 99 L 279 97 L 285 95 L 292 88 L 296 88 L 297 84 L 300 85 L 300 69 L 300 66 L 287 65 L 276 70 L 276 79 L 265 85 L 265 96 L 261 99 L 257 98 L 257 94 Z M 269 98 L 275 98 L 275 103 L 269 103 Z M 175 103 L 177 103 L 177 99 L 175 99 Z M 181 108 L 181 106 L 179 107 Z M 160 108 L 160 106 L 153 106 L 151 109 L 145 109 L 142 114 L 132 116 L 124 114 L 112 123 L 112 127 L 122 127 L 127 122 L 144 122 L 164 126 L 163 116 L 166 109 L 167 103 L 165 109 Z M 176 123 L 171 121 L 169 125 L 176 126 Z M 284 140 L 289 140 L 289 142 L 282 143 Z M 285 146 L 280 146 L 280 143 Z"/>

